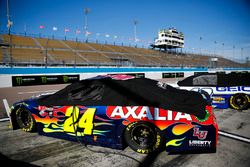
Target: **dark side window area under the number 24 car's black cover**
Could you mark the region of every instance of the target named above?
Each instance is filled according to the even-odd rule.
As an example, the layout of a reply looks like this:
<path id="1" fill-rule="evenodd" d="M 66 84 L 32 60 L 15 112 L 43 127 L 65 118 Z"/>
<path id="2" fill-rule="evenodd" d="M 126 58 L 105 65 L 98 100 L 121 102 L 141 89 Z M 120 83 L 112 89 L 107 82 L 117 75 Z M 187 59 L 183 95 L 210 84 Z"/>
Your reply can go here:
<path id="1" fill-rule="evenodd" d="M 86 100 L 102 100 L 104 93 L 104 85 L 91 84 L 84 85 L 80 88 L 72 90 L 68 94 L 68 99 L 73 101 L 86 101 Z"/>

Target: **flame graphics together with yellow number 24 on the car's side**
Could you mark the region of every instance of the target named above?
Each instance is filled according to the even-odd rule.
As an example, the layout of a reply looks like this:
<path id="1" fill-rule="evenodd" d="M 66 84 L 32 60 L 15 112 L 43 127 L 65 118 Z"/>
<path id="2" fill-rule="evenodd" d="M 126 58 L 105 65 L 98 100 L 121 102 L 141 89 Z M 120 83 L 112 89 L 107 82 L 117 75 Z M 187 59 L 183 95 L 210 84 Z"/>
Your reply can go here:
<path id="1" fill-rule="evenodd" d="M 32 114 L 42 131 L 47 134 L 65 133 L 70 136 L 105 136 L 110 130 L 102 130 L 102 126 L 114 126 L 112 120 L 95 115 L 96 108 L 85 106 L 38 106 L 39 113 Z M 94 120 L 98 120 L 95 122 Z M 110 128 L 108 128 L 110 129 Z"/>

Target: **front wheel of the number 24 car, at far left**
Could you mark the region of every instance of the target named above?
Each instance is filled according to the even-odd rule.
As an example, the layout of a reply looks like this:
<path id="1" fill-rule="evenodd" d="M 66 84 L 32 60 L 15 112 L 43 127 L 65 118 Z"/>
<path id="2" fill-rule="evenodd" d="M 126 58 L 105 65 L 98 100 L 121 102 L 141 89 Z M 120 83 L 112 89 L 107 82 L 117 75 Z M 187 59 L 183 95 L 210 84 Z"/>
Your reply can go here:
<path id="1" fill-rule="evenodd" d="M 25 132 L 36 130 L 36 122 L 27 108 L 21 107 L 16 110 L 16 122 L 20 129 Z"/>

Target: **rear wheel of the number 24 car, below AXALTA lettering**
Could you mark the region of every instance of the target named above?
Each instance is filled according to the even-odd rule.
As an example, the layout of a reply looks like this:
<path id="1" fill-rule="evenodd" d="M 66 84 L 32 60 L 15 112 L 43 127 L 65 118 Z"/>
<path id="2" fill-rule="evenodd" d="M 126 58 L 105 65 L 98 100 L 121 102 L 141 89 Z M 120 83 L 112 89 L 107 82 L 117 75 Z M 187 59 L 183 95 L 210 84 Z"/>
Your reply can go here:
<path id="1" fill-rule="evenodd" d="M 125 129 L 124 139 L 128 146 L 138 153 L 148 154 L 163 149 L 164 142 L 160 130 L 149 122 L 129 124 Z"/>

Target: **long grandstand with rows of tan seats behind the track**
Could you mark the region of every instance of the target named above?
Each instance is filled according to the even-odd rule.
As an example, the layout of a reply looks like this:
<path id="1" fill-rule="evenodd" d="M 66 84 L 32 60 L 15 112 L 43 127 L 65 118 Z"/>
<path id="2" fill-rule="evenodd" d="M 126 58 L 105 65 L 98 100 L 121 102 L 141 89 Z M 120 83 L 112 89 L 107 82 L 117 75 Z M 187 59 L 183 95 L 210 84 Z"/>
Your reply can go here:
<path id="1" fill-rule="evenodd" d="M 211 56 L 18 35 L 0 35 L 2 65 L 209 67 Z M 218 67 L 244 64 L 218 57 Z"/>

